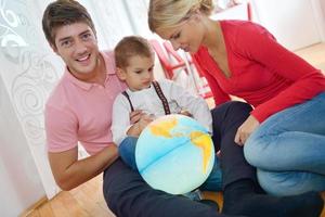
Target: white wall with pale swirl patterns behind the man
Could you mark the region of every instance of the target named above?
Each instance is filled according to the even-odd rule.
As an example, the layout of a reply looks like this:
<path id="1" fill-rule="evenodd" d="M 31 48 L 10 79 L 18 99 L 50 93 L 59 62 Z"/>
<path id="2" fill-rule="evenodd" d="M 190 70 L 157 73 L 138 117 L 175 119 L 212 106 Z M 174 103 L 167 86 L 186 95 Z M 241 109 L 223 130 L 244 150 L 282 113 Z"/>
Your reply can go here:
<path id="1" fill-rule="evenodd" d="M 44 103 L 64 68 L 41 29 L 51 1 L 0 0 L 0 216 L 17 216 L 44 194 L 52 197 L 60 191 L 43 126 Z M 80 2 L 95 23 L 101 49 L 134 34 L 121 0 Z M 142 0 L 133 2 L 146 11 L 143 5 Z"/>

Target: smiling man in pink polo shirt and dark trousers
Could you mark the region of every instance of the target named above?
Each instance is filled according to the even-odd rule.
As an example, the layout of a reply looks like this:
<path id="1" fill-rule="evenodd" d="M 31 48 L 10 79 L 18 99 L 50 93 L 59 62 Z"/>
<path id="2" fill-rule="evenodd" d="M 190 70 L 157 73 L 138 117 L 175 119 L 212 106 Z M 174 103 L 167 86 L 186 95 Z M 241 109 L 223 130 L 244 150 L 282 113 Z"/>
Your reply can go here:
<path id="1" fill-rule="evenodd" d="M 54 1 L 44 11 L 42 27 L 53 51 L 66 64 L 65 74 L 46 106 L 48 154 L 56 183 L 63 190 L 70 190 L 104 171 L 104 197 L 117 216 L 225 216 L 209 205 L 152 189 L 118 158 L 112 142 L 112 106 L 125 85 L 115 74 L 113 54 L 99 51 L 95 28 L 87 10 L 75 0 Z M 272 212 L 277 212 L 276 216 L 307 213 L 316 216 L 323 205 L 316 194 L 284 199 L 256 194 L 253 169 L 233 142 L 249 112 L 250 107 L 244 103 L 227 103 L 212 112 L 213 131 L 222 125 L 227 137 L 226 145 L 221 142 L 221 151 L 223 158 L 230 161 L 224 161 L 222 169 L 227 175 L 224 177 L 231 175 L 232 181 L 224 189 L 224 203 L 232 207 L 238 204 L 233 208 L 236 215 L 275 216 Z M 132 113 L 131 122 L 135 123 L 141 115 Z M 78 159 L 78 141 L 89 157 Z M 238 173 L 236 165 L 240 165 L 240 170 L 245 168 L 245 173 Z M 227 179 L 224 183 L 230 182 L 229 178 L 223 179 Z M 237 200 L 244 194 L 245 200 Z"/>

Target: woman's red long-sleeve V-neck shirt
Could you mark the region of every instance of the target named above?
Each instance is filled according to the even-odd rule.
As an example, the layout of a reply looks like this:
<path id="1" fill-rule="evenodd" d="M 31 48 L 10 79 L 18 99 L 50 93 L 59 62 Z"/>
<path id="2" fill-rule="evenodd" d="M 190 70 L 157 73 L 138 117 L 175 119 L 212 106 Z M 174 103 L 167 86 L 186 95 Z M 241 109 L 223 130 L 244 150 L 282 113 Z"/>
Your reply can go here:
<path id="1" fill-rule="evenodd" d="M 260 123 L 270 115 L 312 99 L 325 90 L 325 77 L 285 49 L 262 26 L 245 21 L 220 21 L 231 76 L 227 78 L 208 49 L 194 54 L 211 88 L 216 104 L 236 95 L 255 106 Z"/>

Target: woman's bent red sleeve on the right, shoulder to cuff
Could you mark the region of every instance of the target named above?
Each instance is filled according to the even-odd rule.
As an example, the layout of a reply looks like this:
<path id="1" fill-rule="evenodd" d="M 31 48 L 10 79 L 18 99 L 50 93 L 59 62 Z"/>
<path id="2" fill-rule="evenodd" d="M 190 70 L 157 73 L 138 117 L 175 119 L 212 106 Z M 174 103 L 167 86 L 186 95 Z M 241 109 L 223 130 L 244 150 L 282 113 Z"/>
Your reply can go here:
<path id="1" fill-rule="evenodd" d="M 237 41 L 238 49 L 248 59 L 294 81 L 287 89 L 251 112 L 260 123 L 270 115 L 310 100 L 325 90 L 325 78 L 321 71 L 277 43 L 262 26 L 248 23 L 238 30 Z"/>

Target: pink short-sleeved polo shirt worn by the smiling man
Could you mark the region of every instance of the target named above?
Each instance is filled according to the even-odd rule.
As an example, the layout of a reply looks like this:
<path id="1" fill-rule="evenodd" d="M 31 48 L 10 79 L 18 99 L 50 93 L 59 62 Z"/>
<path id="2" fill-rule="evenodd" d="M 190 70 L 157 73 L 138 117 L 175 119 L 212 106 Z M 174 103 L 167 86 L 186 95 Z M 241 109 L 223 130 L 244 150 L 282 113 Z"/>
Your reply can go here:
<path id="1" fill-rule="evenodd" d="M 113 142 L 112 108 L 116 95 L 125 90 L 115 74 L 113 52 L 101 53 L 106 65 L 105 86 L 78 80 L 67 69 L 46 105 L 49 152 L 64 152 L 78 141 L 89 154 Z"/>

